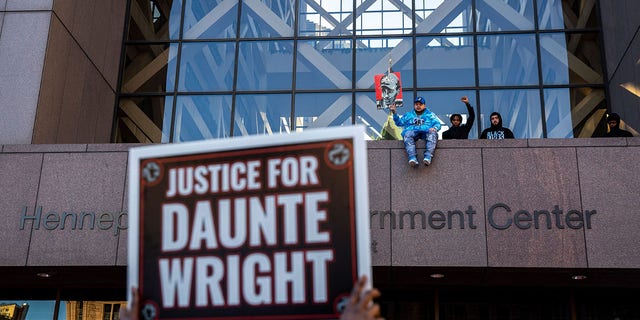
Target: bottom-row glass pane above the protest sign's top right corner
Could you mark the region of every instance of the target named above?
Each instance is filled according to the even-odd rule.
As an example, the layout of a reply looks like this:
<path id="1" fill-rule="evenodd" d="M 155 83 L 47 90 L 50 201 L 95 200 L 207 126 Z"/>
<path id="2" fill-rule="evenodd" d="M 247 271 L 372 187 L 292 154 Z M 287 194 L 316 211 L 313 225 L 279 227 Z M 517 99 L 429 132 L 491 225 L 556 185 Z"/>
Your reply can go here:
<path id="1" fill-rule="evenodd" d="M 296 131 L 351 125 L 351 93 L 298 93 L 295 105 Z"/>

